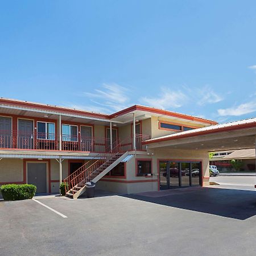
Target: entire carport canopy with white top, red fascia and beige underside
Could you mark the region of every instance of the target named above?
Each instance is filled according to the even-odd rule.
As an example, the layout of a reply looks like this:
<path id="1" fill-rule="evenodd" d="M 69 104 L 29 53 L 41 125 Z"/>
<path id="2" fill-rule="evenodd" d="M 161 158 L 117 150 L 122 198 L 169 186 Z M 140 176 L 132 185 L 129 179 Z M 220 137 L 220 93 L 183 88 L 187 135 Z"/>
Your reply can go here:
<path id="1" fill-rule="evenodd" d="M 255 148 L 255 139 L 256 118 L 250 118 L 148 139 L 143 143 L 148 149 L 175 148 L 210 152 Z"/>

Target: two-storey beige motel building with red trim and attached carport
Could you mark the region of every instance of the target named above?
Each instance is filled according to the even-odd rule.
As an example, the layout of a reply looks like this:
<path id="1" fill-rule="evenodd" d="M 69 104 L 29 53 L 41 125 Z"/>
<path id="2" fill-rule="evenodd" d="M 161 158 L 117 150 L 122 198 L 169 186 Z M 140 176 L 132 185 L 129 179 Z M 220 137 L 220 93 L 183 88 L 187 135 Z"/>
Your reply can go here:
<path id="1" fill-rule="evenodd" d="M 256 118 L 214 121 L 146 106 L 106 115 L 0 98 L 0 185 L 74 199 L 209 185 L 209 151 L 254 148 Z"/>

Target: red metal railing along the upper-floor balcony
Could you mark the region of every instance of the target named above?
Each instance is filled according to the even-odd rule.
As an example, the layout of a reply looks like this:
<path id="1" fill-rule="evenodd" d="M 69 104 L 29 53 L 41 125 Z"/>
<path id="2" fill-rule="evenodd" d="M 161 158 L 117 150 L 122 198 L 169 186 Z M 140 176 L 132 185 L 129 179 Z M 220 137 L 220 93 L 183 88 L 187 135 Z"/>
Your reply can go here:
<path id="1" fill-rule="evenodd" d="M 135 143 L 137 150 L 146 150 L 142 141 L 149 139 L 148 135 L 136 134 Z M 119 139 L 112 142 L 112 148 L 119 143 Z M 133 150 L 133 137 L 122 140 L 120 150 Z M 24 133 L 16 131 L 0 131 L 1 149 L 22 150 L 60 150 L 58 134 L 52 133 Z M 61 150 L 83 152 L 109 152 L 110 139 L 100 137 L 83 137 L 76 135 L 62 135 Z"/>

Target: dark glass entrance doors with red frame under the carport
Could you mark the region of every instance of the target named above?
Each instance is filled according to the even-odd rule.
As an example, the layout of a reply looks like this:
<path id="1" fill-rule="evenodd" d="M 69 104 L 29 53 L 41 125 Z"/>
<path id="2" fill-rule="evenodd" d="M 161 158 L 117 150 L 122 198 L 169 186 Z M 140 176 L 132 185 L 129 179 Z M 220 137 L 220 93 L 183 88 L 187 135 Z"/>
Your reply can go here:
<path id="1" fill-rule="evenodd" d="M 159 162 L 160 190 L 201 185 L 201 162 Z"/>

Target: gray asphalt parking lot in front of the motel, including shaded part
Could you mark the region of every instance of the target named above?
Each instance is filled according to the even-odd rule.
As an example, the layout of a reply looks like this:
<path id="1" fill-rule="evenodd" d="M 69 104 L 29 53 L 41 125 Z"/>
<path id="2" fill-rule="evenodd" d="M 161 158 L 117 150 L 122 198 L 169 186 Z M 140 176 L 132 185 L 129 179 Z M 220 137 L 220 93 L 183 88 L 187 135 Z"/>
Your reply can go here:
<path id="1" fill-rule="evenodd" d="M 0 255 L 255 255 L 256 193 L 184 188 L 0 201 Z M 66 217 L 60 216 L 58 213 Z"/>

